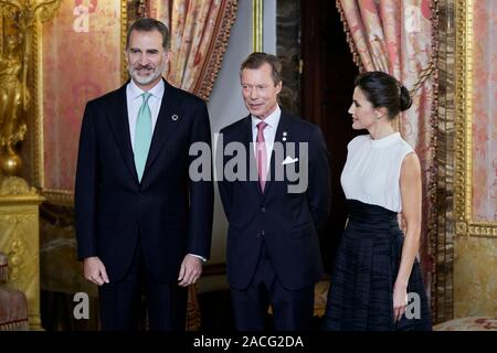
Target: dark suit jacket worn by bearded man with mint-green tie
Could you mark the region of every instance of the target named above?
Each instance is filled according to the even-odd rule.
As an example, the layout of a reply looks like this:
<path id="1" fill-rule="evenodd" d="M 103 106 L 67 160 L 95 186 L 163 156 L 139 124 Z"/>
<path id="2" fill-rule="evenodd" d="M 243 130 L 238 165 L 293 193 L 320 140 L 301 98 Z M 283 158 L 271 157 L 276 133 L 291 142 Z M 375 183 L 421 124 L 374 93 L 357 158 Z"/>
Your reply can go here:
<path id="1" fill-rule="evenodd" d="M 209 114 L 200 98 L 165 85 L 141 182 L 126 85 L 85 108 L 74 195 L 77 252 L 80 259 L 98 256 L 110 281 L 125 276 L 139 237 L 147 268 L 161 282 L 178 280 L 186 254 L 210 255 L 212 179 L 189 178 L 190 145 L 211 143 Z"/>

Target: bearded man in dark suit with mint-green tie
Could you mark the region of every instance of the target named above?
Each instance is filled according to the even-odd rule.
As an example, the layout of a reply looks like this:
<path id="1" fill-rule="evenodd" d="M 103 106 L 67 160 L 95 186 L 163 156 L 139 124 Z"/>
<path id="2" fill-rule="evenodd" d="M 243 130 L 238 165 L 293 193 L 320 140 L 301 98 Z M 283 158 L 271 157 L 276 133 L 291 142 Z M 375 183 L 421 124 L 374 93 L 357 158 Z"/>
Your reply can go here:
<path id="1" fill-rule="evenodd" d="M 205 104 L 162 78 L 169 31 L 154 19 L 128 30 L 131 79 L 88 101 L 76 171 L 78 257 L 98 285 L 104 330 L 184 330 L 186 288 L 209 257 L 213 185 L 189 178 L 190 146 L 210 146 Z"/>

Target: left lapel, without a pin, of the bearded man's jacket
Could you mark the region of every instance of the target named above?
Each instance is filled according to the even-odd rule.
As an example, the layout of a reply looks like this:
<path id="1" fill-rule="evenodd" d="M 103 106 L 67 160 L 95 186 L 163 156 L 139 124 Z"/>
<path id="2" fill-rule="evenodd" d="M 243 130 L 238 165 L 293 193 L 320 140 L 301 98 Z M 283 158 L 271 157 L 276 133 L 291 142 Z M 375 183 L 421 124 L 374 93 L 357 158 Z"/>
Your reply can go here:
<path id="1" fill-rule="evenodd" d="M 107 118 L 125 164 L 131 178 L 138 183 L 138 174 L 136 173 L 131 140 L 129 137 L 128 106 L 126 99 L 126 86 L 128 83 L 119 88 L 117 99 L 114 101 L 110 114 L 107 114 Z"/>

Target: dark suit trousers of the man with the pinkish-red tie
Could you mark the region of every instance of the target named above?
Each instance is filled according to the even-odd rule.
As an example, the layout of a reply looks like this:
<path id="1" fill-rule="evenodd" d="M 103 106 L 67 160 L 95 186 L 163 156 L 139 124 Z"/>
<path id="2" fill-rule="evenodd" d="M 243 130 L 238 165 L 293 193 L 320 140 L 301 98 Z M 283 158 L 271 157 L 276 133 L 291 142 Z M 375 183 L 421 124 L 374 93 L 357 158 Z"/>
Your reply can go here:
<path id="1" fill-rule="evenodd" d="M 278 281 L 263 244 L 257 268 L 244 290 L 231 288 L 235 327 L 239 331 L 263 331 L 271 304 L 277 331 L 310 330 L 314 285 L 288 290 Z"/>

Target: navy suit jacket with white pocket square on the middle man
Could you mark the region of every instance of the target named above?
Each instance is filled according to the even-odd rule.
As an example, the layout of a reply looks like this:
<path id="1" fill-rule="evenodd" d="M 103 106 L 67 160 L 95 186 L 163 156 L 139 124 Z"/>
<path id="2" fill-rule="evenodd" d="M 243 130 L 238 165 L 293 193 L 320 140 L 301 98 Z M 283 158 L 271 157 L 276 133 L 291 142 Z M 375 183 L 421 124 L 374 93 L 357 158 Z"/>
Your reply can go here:
<path id="1" fill-rule="evenodd" d="M 251 116 L 223 128 L 221 133 L 224 146 L 242 142 L 247 151 L 247 164 L 255 163 L 253 149 L 250 149 L 253 141 Z M 324 275 L 317 229 L 328 221 L 330 183 L 322 133 L 315 125 L 282 111 L 276 141 L 284 143 L 284 158 L 299 160 L 306 157 L 300 156 L 298 142 L 308 142 L 308 186 L 304 192 L 288 192 L 288 185 L 297 182 L 288 181 L 287 170 L 284 180 L 275 180 L 275 163 L 282 161 L 275 159 L 274 150 L 271 181 L 266 182 L 264 193 L 258 181 L 224 179 L 218 182 L 229 221 L 226 268 L 233 288 L 245 289 L 250 285 L 263 242 L 276 276 L 287 289 L 313 285 Z M 295 152 L 285 142 L 295 142 Z M 223 165 L 230 159 L 224 157 Z"/>

